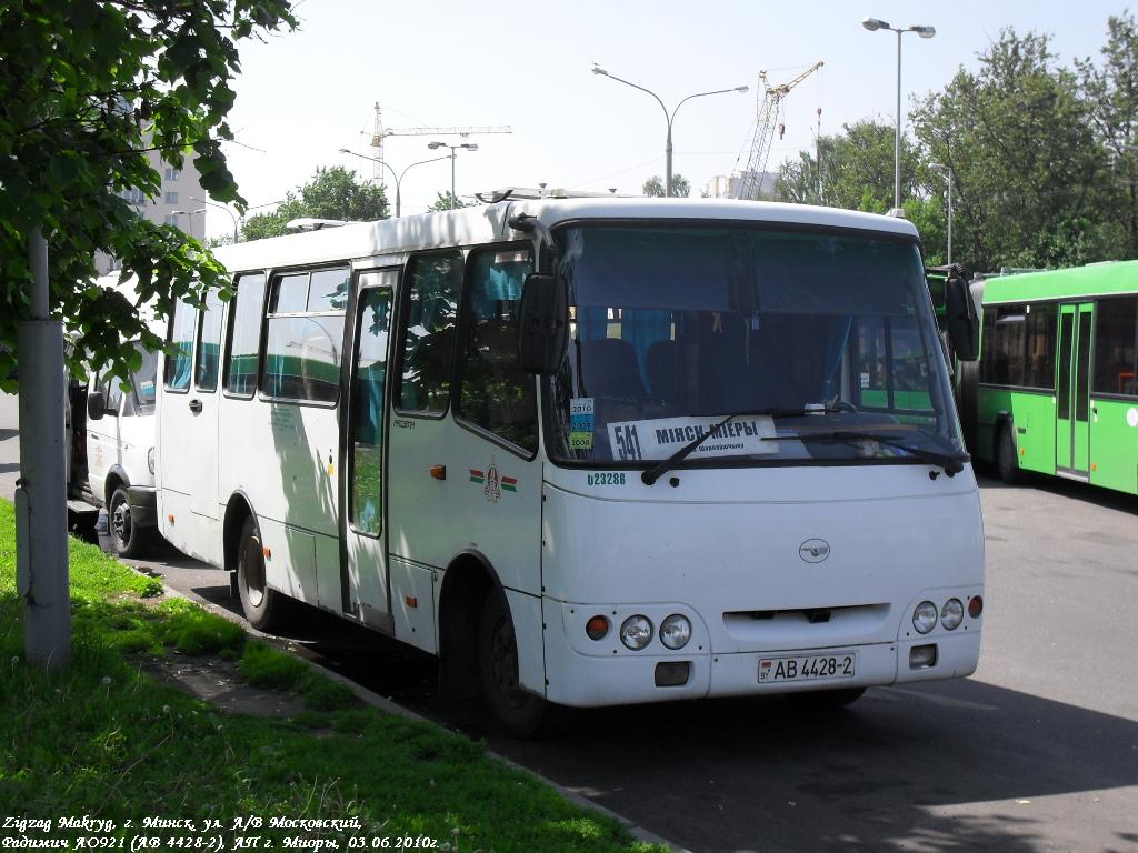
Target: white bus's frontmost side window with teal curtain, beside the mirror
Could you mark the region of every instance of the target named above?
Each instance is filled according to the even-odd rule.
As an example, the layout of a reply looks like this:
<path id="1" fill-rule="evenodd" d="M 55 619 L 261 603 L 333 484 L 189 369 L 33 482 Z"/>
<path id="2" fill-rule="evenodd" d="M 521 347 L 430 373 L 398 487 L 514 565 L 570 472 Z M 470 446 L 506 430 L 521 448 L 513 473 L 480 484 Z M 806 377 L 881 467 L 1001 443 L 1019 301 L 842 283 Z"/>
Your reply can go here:
<path id="1" fill-rule="evenodd" d="M 535 453 L 535 381 L 518 366 L 518 310 L 522 283 L 534 270 L 533 252 L 528 248 L 475 250 L 468 268 L 456 414 Z"/>

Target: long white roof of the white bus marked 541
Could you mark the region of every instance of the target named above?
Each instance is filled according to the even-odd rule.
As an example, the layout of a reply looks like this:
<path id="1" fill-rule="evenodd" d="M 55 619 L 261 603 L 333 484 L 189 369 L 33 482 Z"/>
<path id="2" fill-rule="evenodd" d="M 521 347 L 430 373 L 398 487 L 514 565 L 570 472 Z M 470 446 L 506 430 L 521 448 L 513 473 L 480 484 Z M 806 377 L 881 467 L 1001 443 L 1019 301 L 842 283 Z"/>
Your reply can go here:
<path id="1" fill-rule="evenodd" d="M 856 229 L 916 238 L 906 220 L 810 205 L 733 199 L 534 199 L 403 216 L 225 246 L 214 255 L 231 272 L 368 258 L 421 249 L 522 239 L 506 221 L 519 213 L 547 226 L 578 220 L 708 220 Z"/>

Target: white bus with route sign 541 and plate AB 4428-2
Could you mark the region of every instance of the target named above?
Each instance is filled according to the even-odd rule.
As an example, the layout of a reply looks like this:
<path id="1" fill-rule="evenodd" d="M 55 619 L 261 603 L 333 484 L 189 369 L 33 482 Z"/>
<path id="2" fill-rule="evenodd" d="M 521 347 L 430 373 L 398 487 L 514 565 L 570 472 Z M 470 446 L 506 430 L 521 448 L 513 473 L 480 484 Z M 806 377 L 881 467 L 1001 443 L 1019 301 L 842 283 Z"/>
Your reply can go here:
<path id="1" fill-rule="evenodd" d="M 222 249 L 178 305 L 158 513 L 249 621 L 563 706 L 963 677 L 983 533 L 915 229 L 512 200 Z"/>

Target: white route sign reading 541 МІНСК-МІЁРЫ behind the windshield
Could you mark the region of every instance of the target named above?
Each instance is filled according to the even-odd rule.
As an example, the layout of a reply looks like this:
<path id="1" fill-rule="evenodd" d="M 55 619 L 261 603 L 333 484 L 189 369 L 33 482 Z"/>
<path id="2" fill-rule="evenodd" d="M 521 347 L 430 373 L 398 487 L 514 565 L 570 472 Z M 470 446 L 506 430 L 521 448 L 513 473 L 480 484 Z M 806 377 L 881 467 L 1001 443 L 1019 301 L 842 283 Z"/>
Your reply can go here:
<path id="1" fill-rule="evenodd" d="M 723 417 L 661 417 L 609 424 L 612 456 L 621 461 L 666 459 L 723 422 Z M 691 458 L 778 453 L 773 417 L 740 416 L 715 430 Z"/>

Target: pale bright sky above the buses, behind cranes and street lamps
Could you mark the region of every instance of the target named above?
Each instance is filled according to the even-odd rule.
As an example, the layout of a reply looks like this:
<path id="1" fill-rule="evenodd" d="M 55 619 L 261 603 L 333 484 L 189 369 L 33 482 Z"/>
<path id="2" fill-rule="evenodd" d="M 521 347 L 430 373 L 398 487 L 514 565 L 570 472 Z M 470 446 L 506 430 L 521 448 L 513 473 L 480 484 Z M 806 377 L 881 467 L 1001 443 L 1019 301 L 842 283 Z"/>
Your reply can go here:
<path id="1" fill-rule="evenodd" d="M 302 0 L 300 27 L 240 45 L 241 74 L 226 144 L 230 168 L 250 206 L 284 197 L 318 167 L 340 165 L 371 179 L 374 166 L 347 148 L 370 148 L 374 105 L 387 130 L 509 126 L 510 134 L 393 135 L 384 159 L 402 181 L 403 214 L 421 213 L 451 187 L 457 194 L 504 187 L 564 187 L 638 194 L 663 175 L 667 121 L 652 97 L 592 73 L 594 64 L 657 93 L 671 109 L 696 92 L 673 124 L 674 172 L 694 194 L 715 175 L 745 167 L 762 98 L 759 72 L 782 83 L 814 63 L 824 67 L 783 101 L 768 171 L 813 150 L 822 133 L 874 118 L 892 124 L 897 36 L 868 32 L 867 16 L 893 26 L 932 25 L 935 38 L 902 36 L 902 93 L 942 89 L 1004 27 L 1044 32 L 1064 63 L 1098 57 L 1115 0 L 572 0 L 477 3 L 467 0 Z M 394 182 L 382 173 L 394 200 Z M 264 208 L 267 209 L 267 208 Z M 232 221 L 209 208 L 209 235 Z"/>

